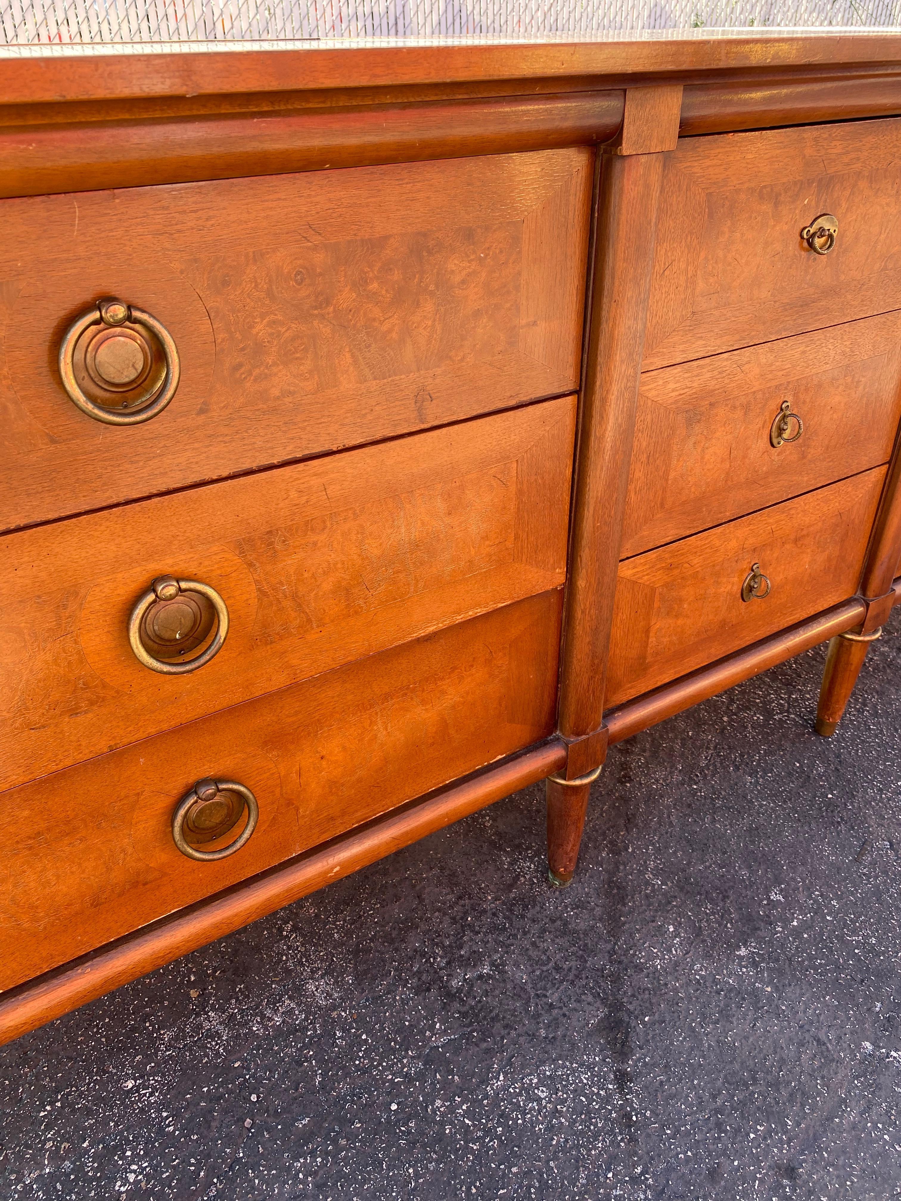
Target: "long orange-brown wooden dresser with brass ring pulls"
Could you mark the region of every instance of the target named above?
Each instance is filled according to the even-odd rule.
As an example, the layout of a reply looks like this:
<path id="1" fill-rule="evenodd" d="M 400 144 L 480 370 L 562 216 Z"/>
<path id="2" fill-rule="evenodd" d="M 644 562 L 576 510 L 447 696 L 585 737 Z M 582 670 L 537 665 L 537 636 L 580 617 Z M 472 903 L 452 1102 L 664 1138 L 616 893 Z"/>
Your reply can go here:
<path id="1" fill-rule="evenodd" d="M 0 59 L 0 1039 L 899 591 L 901 38 Z M 813 736 L 813 735 L 811 735 Z"/>

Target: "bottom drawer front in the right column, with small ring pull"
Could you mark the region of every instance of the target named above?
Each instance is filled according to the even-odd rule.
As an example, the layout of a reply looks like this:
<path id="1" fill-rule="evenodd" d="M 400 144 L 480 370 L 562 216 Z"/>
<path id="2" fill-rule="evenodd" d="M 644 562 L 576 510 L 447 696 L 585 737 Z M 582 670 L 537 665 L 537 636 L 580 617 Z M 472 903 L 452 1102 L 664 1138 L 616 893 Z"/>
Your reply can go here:
<path id="1" fill-rule="evenodd" d="M 884 478 L 875 467 L 621 563 L 608 706 L 852 596 Z M 771 591 L 745 602 L 754 562 Z"/>

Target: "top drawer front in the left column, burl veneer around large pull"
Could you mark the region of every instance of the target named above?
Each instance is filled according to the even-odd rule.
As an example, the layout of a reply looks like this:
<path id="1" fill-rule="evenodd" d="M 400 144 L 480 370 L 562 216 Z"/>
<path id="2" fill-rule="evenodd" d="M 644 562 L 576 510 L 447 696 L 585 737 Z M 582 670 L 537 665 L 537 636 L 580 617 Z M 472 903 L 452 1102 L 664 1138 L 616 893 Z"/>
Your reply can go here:
<path id="1" fill-rule="evenodd" d="M 0 528 L 420 430 L 578 386 L 592 151 L 0 202 Z M 56 375 L 102 295 L 181 383 L 105 426 Z"/>

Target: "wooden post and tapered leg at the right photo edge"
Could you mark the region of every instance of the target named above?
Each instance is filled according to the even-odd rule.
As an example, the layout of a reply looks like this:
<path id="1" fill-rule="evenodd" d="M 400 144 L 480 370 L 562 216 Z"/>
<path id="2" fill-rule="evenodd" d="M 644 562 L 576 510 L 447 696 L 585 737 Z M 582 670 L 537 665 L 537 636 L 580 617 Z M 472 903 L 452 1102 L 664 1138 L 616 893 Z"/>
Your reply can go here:
<path id="1" fill-rule="evenodd" d="M 873 524 L 870 546 L 860 579 L 860 594 L 866 602 L 866 617 L 859 629 L 839 634 L 829 643 L 823 683 L 817 705 L 817 734 L 831 737 L 851 700 L 870 644 L 882 633 L 891 613 L 891 590 L 901 560 L 901 434 L 895 440 L 891 466 L 885 478 L 879 512 Z"/>

